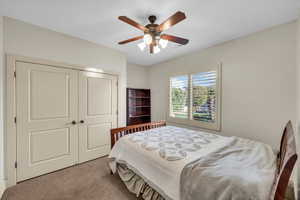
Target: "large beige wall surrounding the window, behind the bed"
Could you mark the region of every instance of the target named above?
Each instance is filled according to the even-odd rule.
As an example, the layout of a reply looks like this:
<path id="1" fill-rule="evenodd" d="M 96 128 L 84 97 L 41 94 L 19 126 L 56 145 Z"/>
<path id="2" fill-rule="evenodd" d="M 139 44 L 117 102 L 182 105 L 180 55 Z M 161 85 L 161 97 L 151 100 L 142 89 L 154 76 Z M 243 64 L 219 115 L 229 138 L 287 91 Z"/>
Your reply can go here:
<path id="1" fill-rule="evenodd" d="M 222 131 L 279 148 L 288 120 L 296 121 L 297 23 L 226 42 L 150 68 L 153 120 L 166 118 L 168 77 L 222 62 Z"/>

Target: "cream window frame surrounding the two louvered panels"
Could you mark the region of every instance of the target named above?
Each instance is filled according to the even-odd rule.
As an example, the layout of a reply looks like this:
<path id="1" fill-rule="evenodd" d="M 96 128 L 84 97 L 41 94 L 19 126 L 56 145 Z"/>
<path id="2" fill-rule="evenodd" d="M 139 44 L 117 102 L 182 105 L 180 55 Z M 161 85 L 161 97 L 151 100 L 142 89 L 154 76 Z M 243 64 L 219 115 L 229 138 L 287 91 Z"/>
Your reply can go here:
<path id="1" fill-rule="evenodd" d="M 187 125 L 187 126 L 194 126 L 194 127 L 199 127 L 203 129 L 208 129 L 208 130 L 214 130 L 214 131 L 221 131 L 221 96 L 222 96 L 222 65 L 219 64 L 217 67 L 214 68 L 209 68 L 206 70 L 199 70 L 197 72 L 192 72 L 192 73 L 181 73 L 181 74 L 174 74 L 169 77 L 169 99 L 168 99 L 168 114 L 167 114 L 167 121 L 170 123 L 176 123 L 176 124 L 182 124 L 182 125 Z M 214 123 L 210 122 L 201 122 L 197 120 L 193 120 L 192 117 L 192 112 L 191 112 L 191 105 L 192 105 L 192 75 L 201 73 L 201 72 L 209 72 L 209 71 L 216 71 L 217 72 L 217 79 L 216 79 L 216 105 L 217 105 L 217 110 L 216 110 L 216 121 Z M 172 103 L 172 98 L 171 98 L 171 78 L 176 77 L 176 76 L 184 76 L 188 75 L 188 90 L 189 90 L 189 106 L 188 106 L 188 119 L 182 119 L 182 118 L 176 118 L 176 117 L 171 117 L 170 116 L 170 111 L 171 111 L 171 103 Z"/>

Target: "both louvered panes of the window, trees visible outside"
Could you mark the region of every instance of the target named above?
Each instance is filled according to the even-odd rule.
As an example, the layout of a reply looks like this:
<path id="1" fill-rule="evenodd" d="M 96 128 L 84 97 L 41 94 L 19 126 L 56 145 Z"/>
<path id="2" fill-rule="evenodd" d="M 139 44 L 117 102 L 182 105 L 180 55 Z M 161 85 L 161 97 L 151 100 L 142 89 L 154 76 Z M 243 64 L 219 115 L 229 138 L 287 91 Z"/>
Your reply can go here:
<path id="1" fill-rule="evenodd" d="M 189 81 L 191 84 L 189 84 Z M 171 102 L 170 116 L 191 120 L 216 122 L 217 72 L 201 72 L 192 75 L 177 76 L 170 79 Z M 191 90 L 189 90 L 191 85 Z M 191 94 L 190 94 L 190 92 Z M 189 97 L 192 101 L 189 101 Z M 191 105 L 189 105 L 191 103 Z M 190 107 L 190 109 L 188 109 Z"/>

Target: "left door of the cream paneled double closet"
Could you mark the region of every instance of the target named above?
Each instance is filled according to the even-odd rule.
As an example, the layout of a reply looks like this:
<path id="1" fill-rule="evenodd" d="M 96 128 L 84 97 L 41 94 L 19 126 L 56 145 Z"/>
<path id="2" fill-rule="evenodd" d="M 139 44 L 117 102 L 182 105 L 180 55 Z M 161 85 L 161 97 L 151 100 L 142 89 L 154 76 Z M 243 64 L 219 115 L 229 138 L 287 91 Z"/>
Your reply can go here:
<path id="1" fill-rule="evenodd" d="M 78 72 L 16 63 L 17 181 L 78 159 Z"/>

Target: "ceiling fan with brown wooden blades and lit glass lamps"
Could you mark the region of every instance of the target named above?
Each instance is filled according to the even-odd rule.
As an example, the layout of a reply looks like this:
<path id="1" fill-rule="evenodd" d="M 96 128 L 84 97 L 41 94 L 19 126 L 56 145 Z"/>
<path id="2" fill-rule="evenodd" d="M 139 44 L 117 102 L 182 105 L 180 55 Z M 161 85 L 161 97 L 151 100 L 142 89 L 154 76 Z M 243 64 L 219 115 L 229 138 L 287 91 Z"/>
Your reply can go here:
<path id="1" fill-rule="evenodd" d="M 151 15 L 148 18 L 150 24 L 143 26 L 126 16 L 120 16 L 119 20 L 140 29 L 144 32 L 144 35 L 121 41 L 119 42 L 119 44 L 127 44 L 129 42 L 143 39 L 143 42 L 138 44 L 139 48 L 143 51 L 147 46 L 149 46 L 151 54 L 160 52 L 159 47 L 166 48 L 168 45 L 168 41 L 175 42 L 181 45 L 186 45 L 189 42 L 188 39 L 168 34 L 162 34 L 163 31 L 168 30 L 170 27 L 181 22 L 185 18 L 185 14 L 183 12 L 178 11 L 174 15 L 169 17 L 166 21 L 158 25 L 155 24 L 156 16 Z"/>

